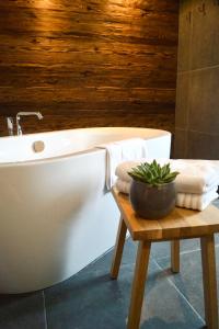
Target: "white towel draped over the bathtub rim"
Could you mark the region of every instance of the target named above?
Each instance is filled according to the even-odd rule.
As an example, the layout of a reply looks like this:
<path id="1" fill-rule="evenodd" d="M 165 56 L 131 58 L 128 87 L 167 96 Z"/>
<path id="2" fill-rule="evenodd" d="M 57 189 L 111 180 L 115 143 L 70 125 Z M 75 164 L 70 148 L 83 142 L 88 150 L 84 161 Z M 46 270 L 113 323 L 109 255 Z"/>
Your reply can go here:
<path id="1" fill-rule="evenodd" d="M 110 144 L 99 145 L 106 149 L 106 188 L 111 190 L 116 181 L 115 169 L 118 163 L 146 158 L 148 148 L 145 139 L 130 138 Z"/>

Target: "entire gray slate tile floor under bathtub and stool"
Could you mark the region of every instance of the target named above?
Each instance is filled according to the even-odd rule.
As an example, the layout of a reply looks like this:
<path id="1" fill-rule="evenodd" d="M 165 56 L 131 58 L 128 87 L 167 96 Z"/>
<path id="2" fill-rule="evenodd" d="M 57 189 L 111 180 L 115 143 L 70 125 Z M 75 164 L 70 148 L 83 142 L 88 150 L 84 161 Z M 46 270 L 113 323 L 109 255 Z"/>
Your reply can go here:
<path id="1" fill-rule="evenodd" d="M 125 329 L 136 243 L 126 241 L 117 281 L 110 279 L 113 251 L 47 290 L 0 295 L 0 329 Z M 199 241 L 181 242 L 181 273 L 170 272 L 169 242 L 153 243 L 141 329 L 204 328 Z M 216 236 L 219 282 L 219 236 Z M 218 292 L 219 295 L 219 292 Z"/>

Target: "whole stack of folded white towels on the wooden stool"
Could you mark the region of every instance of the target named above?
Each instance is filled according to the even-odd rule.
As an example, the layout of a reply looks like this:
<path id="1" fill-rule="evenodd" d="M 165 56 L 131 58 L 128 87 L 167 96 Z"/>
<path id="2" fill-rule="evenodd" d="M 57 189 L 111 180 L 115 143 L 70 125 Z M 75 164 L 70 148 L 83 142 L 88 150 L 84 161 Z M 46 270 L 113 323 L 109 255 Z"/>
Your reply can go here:
<path id="1" fill-rule="evenodd" d="M 152 160 L 140 159 L 140 161 L 120 163 L 115 172 L 118 191 L 129 194 L 131 178 L 127 172 L 141 162 Z M 170 159 L 157 159 L 157 161 L 161 166 L 170 162 L 171 169 L 180 172 L 175 179 L 176 206 L 203 211 L 218 197 L 219 161 Z"/>

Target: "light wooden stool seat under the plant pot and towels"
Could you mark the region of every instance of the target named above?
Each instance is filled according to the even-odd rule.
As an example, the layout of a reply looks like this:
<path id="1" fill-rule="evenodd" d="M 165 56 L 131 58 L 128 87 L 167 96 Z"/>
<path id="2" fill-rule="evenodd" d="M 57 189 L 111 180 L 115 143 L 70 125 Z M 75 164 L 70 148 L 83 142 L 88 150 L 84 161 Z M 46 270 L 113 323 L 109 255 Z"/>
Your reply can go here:
<path id="1" fill-rule="evenodd" d="M 219 208 L 214 205 L 203 212 L 175 207 L 166 217 L 149 220 L 134 212 L 127 194 L 115 188 L 112 193 L 134 240 L 186 239 L 219 231 Z"/>

